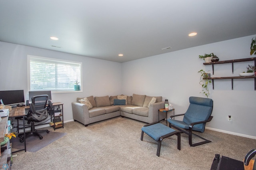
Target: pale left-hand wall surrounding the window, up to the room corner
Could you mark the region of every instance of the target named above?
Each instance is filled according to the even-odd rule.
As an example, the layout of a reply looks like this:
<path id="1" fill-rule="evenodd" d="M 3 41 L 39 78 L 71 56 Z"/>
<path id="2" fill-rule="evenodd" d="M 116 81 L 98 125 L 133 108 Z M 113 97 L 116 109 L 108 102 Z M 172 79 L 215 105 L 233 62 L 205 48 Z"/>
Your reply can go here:
<path id="1" fill-rule="evenodd" d="M 0 90 L 24 90 L 28 100 L 27 55 L 82 62 L 83 92 L 52 94 L 53 102 L 64 103 L 64 121 L 73 119 L 71 103 L 76 97 L 121 94 L 121 63 L 61 53 L 25 45 L 0 42 Z"/>

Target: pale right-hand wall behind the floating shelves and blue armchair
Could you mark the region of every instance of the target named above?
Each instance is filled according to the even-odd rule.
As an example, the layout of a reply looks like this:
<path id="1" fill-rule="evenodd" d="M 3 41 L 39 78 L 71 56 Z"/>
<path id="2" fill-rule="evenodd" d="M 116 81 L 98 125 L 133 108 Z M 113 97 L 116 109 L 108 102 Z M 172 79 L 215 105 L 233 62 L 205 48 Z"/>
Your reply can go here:
<path id="1" fill-rule="evenodd" d="M 254 35 L 255 36 L 255 35 Z M 156 55 L 134 61 L 122 63 L 122 92 L 127 95 L 133 93 L 149 96 L 162 96 L 168 99 L 175 108 L 175 114 L 186 111 L 190 96 L 205 97 L 200 94 L 200 74 L 198 71 L 210 70 L 211 65 L 203 65 L 204 60 L 198 55 L 214 53 L 221 60 L 256 57 L 250 55 L 250 43 L 254 36 L 212 43 Z M 253 61 L 220 64 L 214 66 L 212 77 L 239 76 L 246 71 L 246 66 L 254 65 Z M 132 68 L 132 69 L 131 69 Z M 214 90 L 210 87 L 209 98 L 214 100 L 212 121 L 208 128 L 256 138 L 256 91 L 254 79 L 234 79 L 234 90 L 231 89 L 231 80 L 215 80 Z M 232 116 L 229 122 L 228 115 Z"/>

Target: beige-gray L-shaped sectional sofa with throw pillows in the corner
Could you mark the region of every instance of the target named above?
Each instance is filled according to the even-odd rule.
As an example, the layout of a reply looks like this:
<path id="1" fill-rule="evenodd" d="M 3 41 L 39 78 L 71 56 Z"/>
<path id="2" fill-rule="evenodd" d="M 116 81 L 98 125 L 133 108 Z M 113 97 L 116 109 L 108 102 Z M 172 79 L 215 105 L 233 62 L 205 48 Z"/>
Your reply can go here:
<path id="1" fill-rule="evenodd" d="M 72 102 L 74 121 L 85 126 L 90 123 L 113 117 L 128 117 L 145 123 L 158 121 L 158 109 L 164 108 L 162 97 L 150 97 L 133 94 L 132 96 L 116 95 L 103 97 L 77 98 Z M 165 115 L 160 114 L 160 120 Z"/>

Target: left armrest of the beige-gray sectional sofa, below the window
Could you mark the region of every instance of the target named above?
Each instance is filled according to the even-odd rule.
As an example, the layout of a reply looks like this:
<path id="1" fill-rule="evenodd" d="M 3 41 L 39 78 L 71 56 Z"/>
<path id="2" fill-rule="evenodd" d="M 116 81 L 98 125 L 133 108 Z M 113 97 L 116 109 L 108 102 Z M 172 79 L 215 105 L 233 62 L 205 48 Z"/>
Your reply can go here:
<path id="1" fill-rule="evenodd" d="M 89 124 L 89 111 L 85 104 L 72 102 L 73 119 L 84 125 Z"/>

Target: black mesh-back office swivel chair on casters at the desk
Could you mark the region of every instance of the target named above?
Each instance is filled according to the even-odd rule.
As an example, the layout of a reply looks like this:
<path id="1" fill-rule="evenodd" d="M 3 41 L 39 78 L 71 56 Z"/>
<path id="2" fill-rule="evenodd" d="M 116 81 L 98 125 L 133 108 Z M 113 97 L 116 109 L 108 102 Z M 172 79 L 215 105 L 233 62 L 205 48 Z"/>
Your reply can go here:
<path id="1" fill-rule="evenodd" d="M 43 136 L 39 134 L 40 132 L 47 132 L 47 133 L 50 132 L 49 130 L 36 130 L 34 125 L 35 122 L 41 122 L 47 119 L 48 109 L 53 108 L 50 100 L 48 101 L 49 105 L 46 106 L 47 101 L 48 101 L 48 95 L 38 95 L 38 96 L 32 97 L 30 110 L 28 111 L 28 114 L 25 117 L 25 120 L 28 121 L 28 124 L 30 124 L 31 122 L 31 131 L 25 133 L 26 138 L 33 135 L 33 136 L 38 136 L 40 139 L 42 139 Z M 22 135 L 23 134 L 18 134 L 18 137 L 21 137 Z M 20 138 L 20 142 L 24 142 L 24 136 Z"/>

